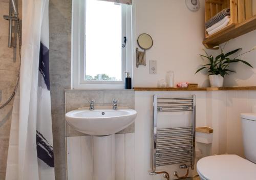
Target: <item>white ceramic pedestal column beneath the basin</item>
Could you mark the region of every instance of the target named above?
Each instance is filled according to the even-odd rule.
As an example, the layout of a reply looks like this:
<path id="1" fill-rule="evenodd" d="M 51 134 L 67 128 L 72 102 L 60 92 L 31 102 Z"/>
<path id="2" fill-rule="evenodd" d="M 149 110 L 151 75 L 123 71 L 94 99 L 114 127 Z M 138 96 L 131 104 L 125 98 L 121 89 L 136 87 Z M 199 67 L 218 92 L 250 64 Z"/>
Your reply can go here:
<path id="1" fill-rule="evenodd" d="M 115 180 L 115 135 L 93 136 L 94 180 Z"/>

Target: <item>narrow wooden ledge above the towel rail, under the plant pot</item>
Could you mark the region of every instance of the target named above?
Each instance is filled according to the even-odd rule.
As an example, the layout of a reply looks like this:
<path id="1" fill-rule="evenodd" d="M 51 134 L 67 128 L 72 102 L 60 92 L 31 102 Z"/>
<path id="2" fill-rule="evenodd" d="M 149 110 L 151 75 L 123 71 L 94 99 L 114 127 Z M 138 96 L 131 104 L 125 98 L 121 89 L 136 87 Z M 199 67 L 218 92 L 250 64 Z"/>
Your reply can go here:
<path id="1" fill-rule="evenodd" d="M 256 86 L 237 87 L 134 87 L 134 91 L 253 91 Z"/>

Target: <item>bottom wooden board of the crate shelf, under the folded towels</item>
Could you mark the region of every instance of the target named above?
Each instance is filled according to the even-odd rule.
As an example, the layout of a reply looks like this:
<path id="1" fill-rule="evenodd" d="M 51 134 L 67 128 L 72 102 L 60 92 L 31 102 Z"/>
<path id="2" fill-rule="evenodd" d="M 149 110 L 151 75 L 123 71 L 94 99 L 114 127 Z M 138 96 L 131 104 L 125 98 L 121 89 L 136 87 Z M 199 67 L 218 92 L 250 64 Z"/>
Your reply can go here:
<path id="1" fill-rule="evenodd" d="M 253 30 L 256 30 L 256 15 L 239 24 L 228 25 L 215 34 L 208 36 L 203 41 L 203 44 L 207 49 L 212 49 L 223 42 L 239 37 Z"/>

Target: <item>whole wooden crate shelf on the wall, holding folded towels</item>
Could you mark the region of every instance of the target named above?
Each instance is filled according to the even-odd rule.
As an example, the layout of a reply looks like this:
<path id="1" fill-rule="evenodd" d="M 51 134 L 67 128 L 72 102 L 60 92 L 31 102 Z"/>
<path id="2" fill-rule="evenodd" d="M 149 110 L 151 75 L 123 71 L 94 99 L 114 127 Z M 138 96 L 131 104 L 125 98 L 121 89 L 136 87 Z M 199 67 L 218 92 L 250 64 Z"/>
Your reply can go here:
<path id="1" fill-rule="evenodd" d="M 205 21 L 222 9 L 230 8 L 230 24 L 220 31 L 207 35 L 203 44 L 207 49 L 256 29 L 256 15 L 252 14 L 252 0 L 205 0 Z"/>

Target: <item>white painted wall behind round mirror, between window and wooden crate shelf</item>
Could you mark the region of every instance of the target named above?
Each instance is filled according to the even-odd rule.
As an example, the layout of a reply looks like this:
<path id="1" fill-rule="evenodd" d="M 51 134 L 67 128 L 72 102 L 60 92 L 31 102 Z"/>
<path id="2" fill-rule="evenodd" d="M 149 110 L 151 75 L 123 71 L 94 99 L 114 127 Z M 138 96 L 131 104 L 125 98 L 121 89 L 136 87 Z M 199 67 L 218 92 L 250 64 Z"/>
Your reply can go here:
<path id="1" fill-rule="evenodd" d="M 146 66 L 134 66 L 134 86 L 157 86 L 167 71 L 174 71 L 175 83 L 188 81 L 208 86 L 207 76 L 195 72 L 202 63 L 204 1 L 198 12 L 187 9 L 184 0 L 134 0 L 135 47 L 141 33 L 152 36 L 154 45 L 146 51 Z M 134 49 L 135 51 L 135 49 Z M 157 74 L 149 74 L 149 60 L 157 60 Z M 136 64 L 136 58 L 134 58 Z"/>

